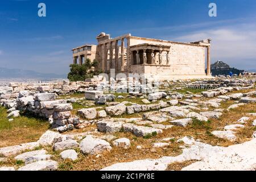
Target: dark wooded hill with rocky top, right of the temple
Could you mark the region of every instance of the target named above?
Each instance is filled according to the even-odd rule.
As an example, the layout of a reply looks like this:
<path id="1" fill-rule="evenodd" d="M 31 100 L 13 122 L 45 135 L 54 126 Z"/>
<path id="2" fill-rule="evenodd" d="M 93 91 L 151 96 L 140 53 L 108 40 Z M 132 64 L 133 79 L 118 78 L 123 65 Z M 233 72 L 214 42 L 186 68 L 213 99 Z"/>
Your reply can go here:
<path id="1" fill-rule="evenodd" d="M 215 63 L 210 65 L 210 72 L 212 72 L 212 76 L 229 75 L 230 72 L 232 72 L 233 74 L 239 75 L 240 73 L 244 72 L 244 70 L 240 70 L 237 68 L 230 68 L 228 64 L 218 60 Z"/>

